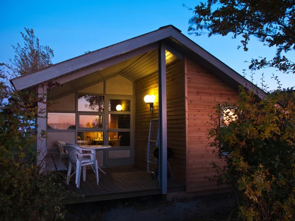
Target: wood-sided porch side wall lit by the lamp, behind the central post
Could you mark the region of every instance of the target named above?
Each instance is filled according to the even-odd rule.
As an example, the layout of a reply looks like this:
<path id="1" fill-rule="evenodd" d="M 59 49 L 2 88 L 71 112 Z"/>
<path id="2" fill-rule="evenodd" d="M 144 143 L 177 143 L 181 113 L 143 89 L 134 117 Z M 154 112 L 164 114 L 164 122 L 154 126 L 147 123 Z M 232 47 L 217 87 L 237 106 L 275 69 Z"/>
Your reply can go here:
<path id="1" fill-rule="evenodd" d="M 169 163 L 176 180 L 185 182 L 184 62 L 177 59 L 167 65 L 166 76 L 167 145 L 173 152 Z M 153 111 L 144 102 L 147 94 L 155 95 Z M 143 169 L 147 168 L 149 121 L 158 117 L 158 72 L 154 72 L 135 82 L 135 165 Z"/>

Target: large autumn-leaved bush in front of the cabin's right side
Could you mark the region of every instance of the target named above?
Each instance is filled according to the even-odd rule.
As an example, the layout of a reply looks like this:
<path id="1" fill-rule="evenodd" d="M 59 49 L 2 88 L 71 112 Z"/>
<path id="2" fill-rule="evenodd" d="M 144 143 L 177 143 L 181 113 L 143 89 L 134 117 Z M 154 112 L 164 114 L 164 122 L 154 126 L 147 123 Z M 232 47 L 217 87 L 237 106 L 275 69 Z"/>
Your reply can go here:
<path id="1" fill-rule="evenodd" d="M 238 107 L 236 115 L 230 116 L 224 107 Z M 219 122 L 223 112 L 227 124 Z M 217 106 L 211 119 L 210 145 L 220 157 L 222 152 L 229 153 L 225 166 L 213 163 L 214 180 L 233 188 L 240 217 L 294 220 L 294 91 L 276 91 L 258 100 L 253 91 L 240 87 L 237 103 Z"/>

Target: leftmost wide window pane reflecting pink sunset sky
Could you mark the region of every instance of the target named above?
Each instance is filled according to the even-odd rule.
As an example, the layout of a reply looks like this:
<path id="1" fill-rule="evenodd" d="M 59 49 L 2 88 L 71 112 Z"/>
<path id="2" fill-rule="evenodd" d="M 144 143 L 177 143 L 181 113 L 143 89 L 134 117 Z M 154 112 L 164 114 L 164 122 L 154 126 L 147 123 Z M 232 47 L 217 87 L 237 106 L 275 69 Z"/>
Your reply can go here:
<path id="1" fill-rule="evenodd" d="M 76 114 L 75 113 L 48 113 L 47 129 L 48 130 L 75 130 Z"/>

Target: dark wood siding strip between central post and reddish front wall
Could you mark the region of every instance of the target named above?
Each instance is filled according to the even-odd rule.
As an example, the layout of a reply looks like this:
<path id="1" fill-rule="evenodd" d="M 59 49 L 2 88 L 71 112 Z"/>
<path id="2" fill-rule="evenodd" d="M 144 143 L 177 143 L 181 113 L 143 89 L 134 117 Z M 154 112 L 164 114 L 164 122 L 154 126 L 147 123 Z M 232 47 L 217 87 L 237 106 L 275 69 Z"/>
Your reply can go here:
<path id="1" fill-rule="evenodd" d="M 184 61 L 167 65 L 167 146 L 172 148 L 168 159 L 175 179 L 185 183 L 185 96 Z M 169 169 L 168 169 L 169 174 Z"/>

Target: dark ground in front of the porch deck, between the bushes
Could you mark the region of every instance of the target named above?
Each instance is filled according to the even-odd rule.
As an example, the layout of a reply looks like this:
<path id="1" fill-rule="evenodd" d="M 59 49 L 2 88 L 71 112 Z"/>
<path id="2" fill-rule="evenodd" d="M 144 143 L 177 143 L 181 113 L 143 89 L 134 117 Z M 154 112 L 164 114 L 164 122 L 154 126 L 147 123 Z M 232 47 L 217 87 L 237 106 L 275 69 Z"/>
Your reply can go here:
<path id="1" fill-rule="evenodd" d="M 235 199 L 218 194 L 167 202 L 158 199 L 79 204 L 66 208 L 66 220 L 87 221 L 221 221 L 228 220 Z"/>

